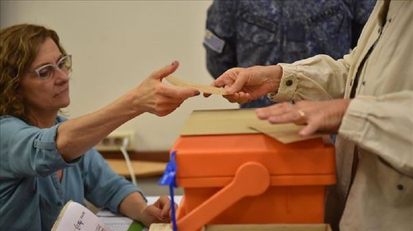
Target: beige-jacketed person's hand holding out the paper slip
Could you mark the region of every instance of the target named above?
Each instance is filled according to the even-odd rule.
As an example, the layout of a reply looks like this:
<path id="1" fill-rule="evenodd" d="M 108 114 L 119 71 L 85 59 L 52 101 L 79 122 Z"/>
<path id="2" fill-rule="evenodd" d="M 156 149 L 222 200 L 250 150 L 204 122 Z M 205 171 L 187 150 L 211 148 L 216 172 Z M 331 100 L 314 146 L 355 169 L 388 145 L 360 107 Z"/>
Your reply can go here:
<path id="1" fill-rule="evenodd" d="M 211 85 L 224 87 L 229 94 L 224 98 L 229 102 L 244 103 L 277 91 L 281 76 L 282 67 L 279 65 L 235 67 L 224 72 Z M 204 96 L 209 97 L 210 94 Z"/>

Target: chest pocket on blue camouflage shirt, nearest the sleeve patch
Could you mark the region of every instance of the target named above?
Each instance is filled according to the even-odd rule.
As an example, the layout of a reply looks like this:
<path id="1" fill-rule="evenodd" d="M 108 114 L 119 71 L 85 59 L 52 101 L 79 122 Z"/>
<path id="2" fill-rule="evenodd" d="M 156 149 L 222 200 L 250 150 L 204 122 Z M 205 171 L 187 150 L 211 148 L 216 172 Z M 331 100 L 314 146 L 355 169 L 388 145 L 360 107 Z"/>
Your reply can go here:
<path id="1" fill-rule="evenodd" d="M 275 21 L 244 12 L 237 23 L 237 39 L 260 45 L 274 43 L 277 27 Z"/>

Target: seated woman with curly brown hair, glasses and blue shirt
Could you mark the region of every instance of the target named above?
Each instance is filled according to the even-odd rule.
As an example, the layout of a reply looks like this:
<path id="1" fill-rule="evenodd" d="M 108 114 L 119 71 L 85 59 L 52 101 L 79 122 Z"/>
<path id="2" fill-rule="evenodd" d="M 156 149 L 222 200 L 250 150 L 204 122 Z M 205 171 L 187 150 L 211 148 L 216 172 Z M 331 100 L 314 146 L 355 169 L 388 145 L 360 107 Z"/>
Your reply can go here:
<path id="1" fill-rule="evenodd" d="M 40 25 L 1 30 L 0 230 L 49 231 L 67 201 L 85 199 L 147 226 L 170 222 L 167 196 L 148 206 L 93 147 L 142 113 L 167 115 L 200 94 L 162 83 L 177 68 L 175 61 L 103 109 L 67 120 L 58 113 L 70 103 L 72 56 L 59 36 Z"/>

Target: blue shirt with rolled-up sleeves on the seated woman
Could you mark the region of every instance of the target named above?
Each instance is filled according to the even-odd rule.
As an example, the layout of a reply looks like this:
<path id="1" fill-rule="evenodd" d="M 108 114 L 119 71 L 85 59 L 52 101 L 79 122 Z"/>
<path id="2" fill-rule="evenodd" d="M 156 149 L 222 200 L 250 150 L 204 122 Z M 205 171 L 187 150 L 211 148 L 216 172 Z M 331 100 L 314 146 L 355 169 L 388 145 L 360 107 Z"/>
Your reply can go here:
<path id="1" fill-rule="evenodd" d="M 120 177 L 94 148 L 67 163 L 56 149 L 56 131 L 12 116 L 0 118 L 0 230 L 47 230 L 69 200 L 118 212 L 120 202 L 140 191 Z M 56 170 L 63 169 L 59 181 Z"/>

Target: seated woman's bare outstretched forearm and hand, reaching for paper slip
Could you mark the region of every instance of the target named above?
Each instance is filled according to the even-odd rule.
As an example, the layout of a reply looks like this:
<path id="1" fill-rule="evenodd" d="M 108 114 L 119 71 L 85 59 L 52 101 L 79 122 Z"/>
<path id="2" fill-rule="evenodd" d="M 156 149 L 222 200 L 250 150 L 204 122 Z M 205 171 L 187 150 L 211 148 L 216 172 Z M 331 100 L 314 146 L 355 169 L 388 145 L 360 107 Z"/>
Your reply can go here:
<path id="1" fill-rule="evenodd" d="M 173 62 L 153 72 L 138 87 L 103 109 L 63 122 L 56 135 L 56 147 L 63 159 L 70 162 L 83 155 L 120 125 L 142 113 L 167 115 L 187 98 L 199 95 L 200 92 L 195 89 L 170 87 L 162 83 L 162 78 L 175 72 L 178 65 L 178 62 Z"/>

